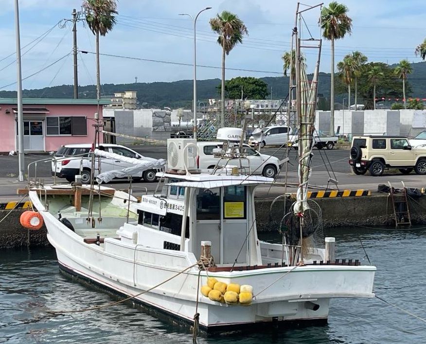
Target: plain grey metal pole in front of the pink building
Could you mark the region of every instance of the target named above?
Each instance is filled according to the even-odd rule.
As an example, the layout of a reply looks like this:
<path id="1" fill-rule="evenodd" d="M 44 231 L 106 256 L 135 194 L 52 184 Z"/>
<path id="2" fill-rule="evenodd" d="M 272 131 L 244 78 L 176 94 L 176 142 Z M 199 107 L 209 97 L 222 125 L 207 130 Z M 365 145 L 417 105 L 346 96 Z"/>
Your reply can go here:
<path id="1" fill-rule="evenodd" d="M 21 42 L 19 35 L 19 5 L 15 0 L 15 30 L 16 30 L 16 69 L 17 69 L 17 103 L 18 103 L 18 180 L 24 181 L 24 119 L 22 114 L 22 75 L 21 75 Z"/>

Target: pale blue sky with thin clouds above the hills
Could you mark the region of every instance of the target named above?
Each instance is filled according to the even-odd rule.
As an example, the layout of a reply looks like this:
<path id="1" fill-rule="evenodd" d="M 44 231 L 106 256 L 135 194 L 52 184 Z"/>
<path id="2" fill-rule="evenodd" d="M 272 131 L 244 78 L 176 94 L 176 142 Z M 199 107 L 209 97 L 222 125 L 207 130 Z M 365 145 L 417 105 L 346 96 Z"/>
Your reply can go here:
<path id="1" fill-rule="evenodd" d="M 1 0 L 0 89 L 15 90 L 15 22 L 14 0 Z M 193 63 L 193 22 L 179 13 L 195 15 L 207 6 L 197 20 L 197 65 L 221 66 L 221 48 L 210 30 L 209 19 L 229 10 L 247 25 L 249 35 L 227 57 L 227 78 L 235 76 L 279 76 L 281 55 L 290 47 L 295 0 L 119 0 L 117 25 L 101 38 L 101 53 L 138 59 Z M 319 2 L 304 0 L 311 5 Z M 353 33 L 336 43 L 336 64 L 348 52 L 359 50 L 369 61 L 397 63 L 403 58 L 420 62 L 414 55 L 417 44 L 426 37 L 424 0 L 342 0 L 353 19 Z M 72 8 L 81 9 L 81 0 L 19 0 L 24 88 L 41 88 L 72 84 L 71 24 L 60 28 L 57 23 L 71 18 Z M 326 5 L 328 2 L 325 3 Z M 306 12 L 302 29 L 316 37 L 319 9 Z M 78 49 L 95 51 L 95 38 L 78 23 Z M 316 53 L 305 52 L 312 70 Z M 8 56 L 10 55 L 10 56 Z M 62 59 L 61 59 L 62 58 Z M 58 61 L 59 60 L 59 61 Z M 58 61 L 58 62 L 56 62 Z M 95 56 L 78 55 L 79 84 L 95 83 Z M 38 72 L 42 70 L 41 72 Z M 253 70 L 253 71 L 247 71 Z M 324 41 L 320 70 L 330 71 L 330 43 Z M 38 72 L 38 73 L 37 73 Z M 35 74 L 34 76 L 31 76 Z M 149 62 L 124 57 L 101 56 L 101 82 L 132 83 L 192 79 L 192 67 L 171 63 Z M 198 67 L 198 79 L 220 78 L 220 69 Z M 13 84 L 13 85 L 10 85 Z"/>

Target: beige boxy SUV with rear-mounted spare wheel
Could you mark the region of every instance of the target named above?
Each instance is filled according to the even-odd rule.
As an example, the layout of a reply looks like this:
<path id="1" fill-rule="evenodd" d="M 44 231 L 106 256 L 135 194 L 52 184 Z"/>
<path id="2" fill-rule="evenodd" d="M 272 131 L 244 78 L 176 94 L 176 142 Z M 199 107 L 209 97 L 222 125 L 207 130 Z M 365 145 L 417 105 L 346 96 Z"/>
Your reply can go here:
<path id="1" fill-rule="evenodd" d="M 349 164 L 355 174 L 370 171 L 378 176 L 389 168 L 404 174 L 413 169 L 417 174 L 426 174 L 426 149 L 411 148 L 408 139 L 400 136 L 355 136 Z"/>

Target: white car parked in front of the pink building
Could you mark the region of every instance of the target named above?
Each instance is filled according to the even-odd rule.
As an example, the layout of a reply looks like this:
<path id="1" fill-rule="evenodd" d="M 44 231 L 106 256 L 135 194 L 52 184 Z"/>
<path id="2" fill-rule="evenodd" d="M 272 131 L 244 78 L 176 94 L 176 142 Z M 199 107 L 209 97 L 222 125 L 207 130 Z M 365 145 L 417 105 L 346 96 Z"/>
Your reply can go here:
<path id="1" fill-rule="evenodd" d="M 131 150 L 130 148 L 118 144 L 101 144 L 99 149 L 105 150 L 110 153 L 123 155 L 126 157 L 142 159 L 143 156 Z M 92 149 L 90 143 L 84 144 L 67 144 L 60 147 L 52 159 L 52 175 L 59 178 L 65 178 L 69 182 L 75 180 L 75 175 L 81 174 L 81 181 L 83 184 L 90 183 L 90 171 L 92 168 L 92 159 L 89 157 L 89 152 Z M 127 162 L 120 160 L 100 157 L 95 159 L 94 176 L 99 173 L 99 161 L 101 163 L 101 172 L 121 170 L 131 165 Z M 82 171 L 80 172 L 80 169 Z M 139 172 L 133 176 L 134 180 L 144 179 L 145 182 L 155 182 L 157 180 L 156 170 L 147 170 Z"/>

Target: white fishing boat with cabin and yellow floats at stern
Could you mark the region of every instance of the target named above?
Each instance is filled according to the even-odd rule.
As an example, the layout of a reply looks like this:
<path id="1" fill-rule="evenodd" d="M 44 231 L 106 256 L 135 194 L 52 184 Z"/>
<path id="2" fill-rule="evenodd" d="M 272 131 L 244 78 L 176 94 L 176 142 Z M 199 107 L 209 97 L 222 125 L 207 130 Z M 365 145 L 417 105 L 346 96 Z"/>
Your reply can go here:
<path id="1" fill-rule="evenodd" d="M 222 167 L 191 172 L 193 141 L 170 140 L 169 170 L 158 173 L 164 186 L 141 202 L 103 186 L 30 189 L 60 268 L 184 322 L 199 314 L 206 331 L 326 323 L 330 299 L 374 296 L 373 266 L 330 261 L 315 247 L 301 262 L 299 246 L 260 241 L 255 189 L 273 180 L 242 174 L 231 141 L 215 152 Z M 226 285 L 234 300 L 224 301 Z"/>

